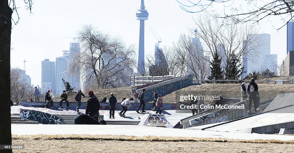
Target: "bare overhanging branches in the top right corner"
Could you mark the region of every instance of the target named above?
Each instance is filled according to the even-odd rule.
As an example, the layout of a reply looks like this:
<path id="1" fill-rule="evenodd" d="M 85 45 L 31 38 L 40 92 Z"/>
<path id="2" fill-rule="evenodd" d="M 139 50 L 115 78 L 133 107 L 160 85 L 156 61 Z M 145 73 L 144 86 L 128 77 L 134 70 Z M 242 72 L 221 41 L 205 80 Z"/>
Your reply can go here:
<path id="1" fill-rule="evenodd" d="M 223 19 L 228 19 L 233 21 L 233 23 L 246 23 L 252 21 L 253 23 L 258 23 L 261 20 L 267 20 L 269 17 L 279 16 L 281 20 L 284 21 L 280 28 L 285 26 L 288 21 L 290 21 L 294 16 L 292 12 L 294 11 L 294 1 L 293 0 L 246 0 L 247 7 L 240 5 L 239 8 L 234 7 L 232 4 L 240 3 L 240 1 L 234 0 L 177 0 L 180 4 L 181 9 L 190 13 L 198 13 L 201 11 L 206 11 L 212 16 L 220 17 Z M 223 15 L 215 14 L 214 10 L 209 8 L 213 4 L 224 3 L 227 7 L 231 7 L 230 11 L 232 13 L 224 12 Z M 226 6 L 224 6 L 226 7 Z M 244 9 L 246 8 L 246 9 Z M 224 8 L 225 10 L 226 8 Z M 232 22 L 230 22 L 232 23 Z"/>

